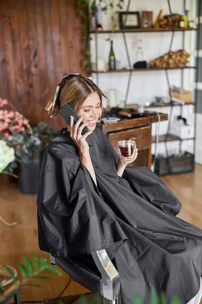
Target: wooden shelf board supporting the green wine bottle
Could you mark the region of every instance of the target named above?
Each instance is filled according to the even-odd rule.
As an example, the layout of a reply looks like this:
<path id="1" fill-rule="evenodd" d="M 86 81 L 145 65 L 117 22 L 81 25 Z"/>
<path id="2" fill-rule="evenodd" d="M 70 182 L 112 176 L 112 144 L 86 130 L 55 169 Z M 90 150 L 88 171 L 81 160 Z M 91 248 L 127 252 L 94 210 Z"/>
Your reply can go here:
<path id="1" fill-rule="evenodd" d="M 189 69 L 189 68 L 196 68 L 194 66 L 184 66 L 184 67 L 175 67 L 175 68 L 132 68 L 132 69 L 127 69 L 127 68 L 122 68 L 122 69 L 114 69 L 114 70 L 103 70 L 103 71 L 96 71 L 92 70 L 91 73 L 123 73 L 123 72 L 148 72 L 148 71 L 156 71 L 156 70 L 166 70 L 166 69 Z"/>

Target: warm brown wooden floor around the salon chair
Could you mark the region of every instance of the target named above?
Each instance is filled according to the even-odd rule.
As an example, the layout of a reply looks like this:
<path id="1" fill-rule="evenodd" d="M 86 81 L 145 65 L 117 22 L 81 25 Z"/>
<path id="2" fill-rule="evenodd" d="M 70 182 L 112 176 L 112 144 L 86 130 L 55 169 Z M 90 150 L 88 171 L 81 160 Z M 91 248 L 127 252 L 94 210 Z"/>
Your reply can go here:
<path id="1" fill-rule="evenodd" d="M 202 229 L 202 166 L 196 164 L 194 173 L 161 178 L 182 203 L 178 217 Z M 22 254 L 31 256 L 31 253 L 34 253 L 38 257 L 45 256 L 49 259 L 48 254 L 38 248 L 36 195 L 20 193 L 17 183 L 0 184 L 0 216 L 9 223 L 17 222 L 8 226 L 0 221 L 0 264 L 9 264 L 18 270 L 16 263 L 22 262 Z M 21 301 L 42 302 L 57 298 L 68 283 L 69 277 L 62 272 L 62 277 L 53 275 L 52 278 L 53 282 L 45 284 L 43 281 L 44 289 L 23 288 Z M 82 292 L 87 290 L 72 280 L 62 296 Z"/>

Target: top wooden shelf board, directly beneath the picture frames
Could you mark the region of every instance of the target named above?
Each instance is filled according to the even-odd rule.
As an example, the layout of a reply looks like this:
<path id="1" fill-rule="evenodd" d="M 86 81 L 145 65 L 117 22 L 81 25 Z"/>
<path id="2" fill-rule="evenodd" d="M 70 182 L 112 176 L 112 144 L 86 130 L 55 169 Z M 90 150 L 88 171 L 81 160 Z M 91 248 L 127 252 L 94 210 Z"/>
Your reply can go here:
<path id="1" fill-rule="evenodd" d="M 105 31 L 97 31 L 97 32 L 90 32 L 90 34 L 121 34 L 121 33 L 151 33 L 151 32 L 186 32 L 186 31 L 197 31 L 198 29 L 196 28 L 187 28 L 187 29 L 181 29 L 181 28 L 168 28 L 168 29 L 163 29 L 163 28 L 157 28 L 157 29 L 144 29 L 144 28 L 140 28 L 140 29 L 120 29 L 120 30 L 115 30 L 115 31 L 111 31 L 111 30 L 105 30 Z"/>

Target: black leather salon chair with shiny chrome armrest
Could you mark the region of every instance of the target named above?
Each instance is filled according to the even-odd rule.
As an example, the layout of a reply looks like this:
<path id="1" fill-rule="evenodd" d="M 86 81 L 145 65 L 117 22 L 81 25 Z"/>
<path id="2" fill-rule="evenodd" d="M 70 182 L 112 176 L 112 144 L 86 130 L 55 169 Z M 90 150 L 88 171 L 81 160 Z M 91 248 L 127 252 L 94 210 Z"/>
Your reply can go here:
<path id="1" fill-rule="evenodd" d="M 119 273 L 105 249 L 71 258 L 53 257 L 50 254 L 50 262 L 83 287 L 100 294 L 104 304 L 121 304 Z"/>

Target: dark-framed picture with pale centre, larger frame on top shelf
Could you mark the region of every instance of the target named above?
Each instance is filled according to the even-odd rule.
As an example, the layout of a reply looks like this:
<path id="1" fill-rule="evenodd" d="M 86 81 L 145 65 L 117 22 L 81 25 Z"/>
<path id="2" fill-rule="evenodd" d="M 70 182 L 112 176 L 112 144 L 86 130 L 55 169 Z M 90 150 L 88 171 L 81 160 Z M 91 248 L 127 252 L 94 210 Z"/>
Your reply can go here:
<path id="1" fill-rule="evenodd" d="M 140 14 L 139 12 L 119 12 L 120 29 L 139 29 Z"/>

